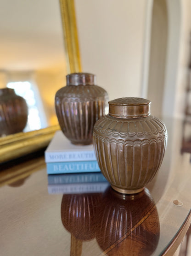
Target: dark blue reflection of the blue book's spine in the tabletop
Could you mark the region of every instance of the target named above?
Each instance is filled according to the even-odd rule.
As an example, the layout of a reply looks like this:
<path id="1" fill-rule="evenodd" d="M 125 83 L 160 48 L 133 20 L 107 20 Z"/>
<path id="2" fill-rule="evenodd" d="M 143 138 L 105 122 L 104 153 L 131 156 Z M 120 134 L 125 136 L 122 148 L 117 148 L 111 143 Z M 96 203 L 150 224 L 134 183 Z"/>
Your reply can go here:
<path id="1" fill-rule="evenodd" d="M 102 173 L 72 173 L 72 174 L 52 174 L 48 175 L 48 184 L 71 184 L 71 183 L 90 183 L 106 182 Z"/>

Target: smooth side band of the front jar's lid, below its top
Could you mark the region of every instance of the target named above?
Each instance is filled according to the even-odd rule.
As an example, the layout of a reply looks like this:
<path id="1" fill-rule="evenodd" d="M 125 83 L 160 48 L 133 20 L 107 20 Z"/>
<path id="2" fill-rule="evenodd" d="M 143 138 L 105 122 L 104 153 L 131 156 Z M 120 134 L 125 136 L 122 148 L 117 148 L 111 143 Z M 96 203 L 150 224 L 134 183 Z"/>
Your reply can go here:
<path id="1" fill-rule="evenodd" d="M 150 104 L 147 105 L 130 105 L 130 106 L 114 106 L 109 105 L 109 115 L 116 118 L 138 118 L 147 117 L 150 113 Z"/>

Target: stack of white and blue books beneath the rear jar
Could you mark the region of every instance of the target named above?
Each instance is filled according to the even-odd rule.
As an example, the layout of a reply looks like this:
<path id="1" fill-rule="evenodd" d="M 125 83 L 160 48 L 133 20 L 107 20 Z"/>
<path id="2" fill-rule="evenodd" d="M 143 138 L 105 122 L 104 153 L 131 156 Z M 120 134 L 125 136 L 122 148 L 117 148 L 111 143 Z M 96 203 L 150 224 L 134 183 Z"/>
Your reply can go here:
<path id="1" fill-rule="evenodd" d="M 73 145 L 56 131 L 45 150 L 47 174 L 100 172 L 93 145 Z"/>

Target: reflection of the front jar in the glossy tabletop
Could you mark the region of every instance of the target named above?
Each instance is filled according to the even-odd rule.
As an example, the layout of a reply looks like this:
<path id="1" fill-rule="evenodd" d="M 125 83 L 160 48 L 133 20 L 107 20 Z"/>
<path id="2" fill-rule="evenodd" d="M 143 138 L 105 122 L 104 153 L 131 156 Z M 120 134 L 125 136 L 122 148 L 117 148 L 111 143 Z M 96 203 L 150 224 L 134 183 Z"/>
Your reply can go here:
<path id="1" fill-rule="evenodd" d="M 123 195 L 109 187 L 97 213 L 96 240 L 104 255 L 150 256 L 157 248 L 159 217 L 148 190 Z"/>

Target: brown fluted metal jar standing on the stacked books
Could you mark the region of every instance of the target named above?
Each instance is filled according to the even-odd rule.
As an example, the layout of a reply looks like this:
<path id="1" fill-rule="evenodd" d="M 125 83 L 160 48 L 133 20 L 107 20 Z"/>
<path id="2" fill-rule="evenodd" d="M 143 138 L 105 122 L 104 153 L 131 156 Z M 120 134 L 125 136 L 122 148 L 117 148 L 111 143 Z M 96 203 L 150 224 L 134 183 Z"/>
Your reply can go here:
<path id="1" fill-rule="evenodd" d="M 62 132 L 73 144 L 91 144 L 93 126 L 107 113 L 107 92 L 89 73 L 67 75 L 67 86 L 55 96 L 56 115 Z"/>

